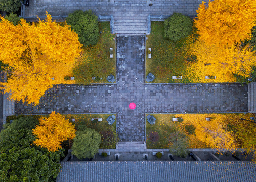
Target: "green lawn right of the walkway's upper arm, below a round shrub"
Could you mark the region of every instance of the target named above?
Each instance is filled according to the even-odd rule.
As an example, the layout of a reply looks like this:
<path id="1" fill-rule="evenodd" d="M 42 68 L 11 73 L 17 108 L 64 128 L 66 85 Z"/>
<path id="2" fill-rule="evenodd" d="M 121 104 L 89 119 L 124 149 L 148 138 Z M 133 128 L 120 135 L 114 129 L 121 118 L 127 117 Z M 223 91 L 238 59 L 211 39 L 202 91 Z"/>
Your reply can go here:
<path id="1" fill-rule="evenodd" d="M 164 37 L 164 23 L 151 22 L 151 34 L 146 40 L 146 75 L 150 72 L 156 78 L 153 83 L 189 83 L 186 78 L 188 63 L 187 50 L 193 42 L 193 36 L 174 42 Z M 152 58 L 148 58 L 148 48 L 151 48 Z M 172 76 L 182 76 L 182 79 L 172 79 Z"/>

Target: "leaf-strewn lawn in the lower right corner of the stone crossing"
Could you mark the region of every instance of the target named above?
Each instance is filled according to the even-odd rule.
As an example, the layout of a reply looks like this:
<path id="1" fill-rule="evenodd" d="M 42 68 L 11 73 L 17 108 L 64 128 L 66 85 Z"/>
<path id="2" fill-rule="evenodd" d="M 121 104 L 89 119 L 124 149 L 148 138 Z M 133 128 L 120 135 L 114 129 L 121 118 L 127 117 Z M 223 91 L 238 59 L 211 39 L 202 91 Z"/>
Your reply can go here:
<path id="1" fill-rule="evenodd" d="M 243 133 L 253 133 L 253 124 L 248 121 L 241 121 L 240 118 L 250 119 L 254 114 L 234 113 L 234 114 L 151 114 L 156 118 L 155 124 L 151 125 L 146 120 L 146 143 L 147 148 L 169 148 L 170 141 L 177 138 L 177 133 L 184 135 L 189 141 L 189 148 L 212 148 L 210 143 L 205 140 L 204 131 L 200 130 L 206 127 L 211 131 L 221 129 L 233 135 L 236 142 L 236 148 L 244 146 Z M 183 121 L 172 121 L 172 118 L 183 118 Z M 212 118 L 206 121 L 205 118 Z M 250 131 L 251 130 L 251 131 Z M 218 132 L 221 132 L 220 130 Z M 223 133 L 223 132 L 222 132 Z M 246 140 L 249 140 L 246 139 Z"/>

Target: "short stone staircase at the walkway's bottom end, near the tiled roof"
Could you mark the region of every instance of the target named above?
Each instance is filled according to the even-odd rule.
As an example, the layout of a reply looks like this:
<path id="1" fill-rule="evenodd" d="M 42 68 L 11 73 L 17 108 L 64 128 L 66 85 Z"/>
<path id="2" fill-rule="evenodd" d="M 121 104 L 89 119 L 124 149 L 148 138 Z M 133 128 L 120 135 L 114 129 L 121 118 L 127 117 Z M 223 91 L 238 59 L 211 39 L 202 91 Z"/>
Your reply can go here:
<path id="1" fill-rule="evenodd" d="M 146 142 L 118 142 L 116 150 L 119 152 L 143 152 L 147 149 Z"/>

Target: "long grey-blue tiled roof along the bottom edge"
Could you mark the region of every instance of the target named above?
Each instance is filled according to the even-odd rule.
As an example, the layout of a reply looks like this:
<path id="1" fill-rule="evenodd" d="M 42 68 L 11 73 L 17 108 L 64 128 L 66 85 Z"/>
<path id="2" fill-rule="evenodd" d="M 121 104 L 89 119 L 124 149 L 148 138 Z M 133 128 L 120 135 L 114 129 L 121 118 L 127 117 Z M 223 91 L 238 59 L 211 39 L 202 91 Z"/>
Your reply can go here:
<path id="1" fill-rule="evenodd" d="M 61 165 L 57 182 L 256 181 L 256 164 L 249 161 L 91 161 Z"/>

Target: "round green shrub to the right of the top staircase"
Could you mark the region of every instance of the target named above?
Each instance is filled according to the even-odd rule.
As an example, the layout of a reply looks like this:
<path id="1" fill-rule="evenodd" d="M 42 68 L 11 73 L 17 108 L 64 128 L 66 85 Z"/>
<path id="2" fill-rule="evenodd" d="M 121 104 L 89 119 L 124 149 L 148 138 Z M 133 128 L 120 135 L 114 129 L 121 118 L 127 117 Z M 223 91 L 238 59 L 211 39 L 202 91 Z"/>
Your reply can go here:
<path id="1" fill-rule="evenodd" d="M 164 36 L 178 41 L 192 33 L 192 20 L 181 13 L 174 13 L 164 20 Z"/>

